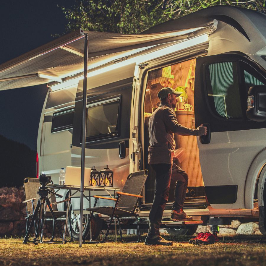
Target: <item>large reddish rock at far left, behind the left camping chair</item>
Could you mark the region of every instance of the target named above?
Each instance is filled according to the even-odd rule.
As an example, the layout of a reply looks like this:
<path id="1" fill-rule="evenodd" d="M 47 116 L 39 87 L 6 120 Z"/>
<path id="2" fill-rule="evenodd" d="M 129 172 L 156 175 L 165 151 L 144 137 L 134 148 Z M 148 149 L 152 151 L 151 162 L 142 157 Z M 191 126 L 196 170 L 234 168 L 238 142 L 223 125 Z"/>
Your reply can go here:
<path id="1" fill-rule="evenodd" d="M 23 208 L 22 201 L 25 199 L 23 190 L 16 187 L 0 188 L 0 206 L 7 208 L 12 207 L 14 210 Z"/>

